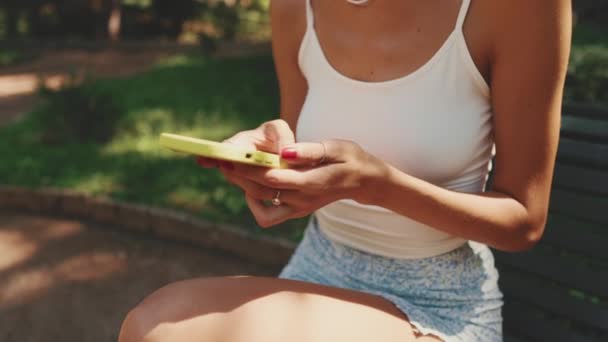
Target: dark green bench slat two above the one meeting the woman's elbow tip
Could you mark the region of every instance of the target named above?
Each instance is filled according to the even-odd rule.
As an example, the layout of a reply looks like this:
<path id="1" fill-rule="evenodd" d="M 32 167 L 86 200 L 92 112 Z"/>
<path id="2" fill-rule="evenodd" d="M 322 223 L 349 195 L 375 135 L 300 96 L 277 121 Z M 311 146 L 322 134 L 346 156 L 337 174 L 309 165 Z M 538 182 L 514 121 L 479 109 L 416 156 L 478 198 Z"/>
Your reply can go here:
<path id="1" fill-rule="evenodd" d="M 553 185 L 608 195 L 608 172 L 558 163 Z"/>

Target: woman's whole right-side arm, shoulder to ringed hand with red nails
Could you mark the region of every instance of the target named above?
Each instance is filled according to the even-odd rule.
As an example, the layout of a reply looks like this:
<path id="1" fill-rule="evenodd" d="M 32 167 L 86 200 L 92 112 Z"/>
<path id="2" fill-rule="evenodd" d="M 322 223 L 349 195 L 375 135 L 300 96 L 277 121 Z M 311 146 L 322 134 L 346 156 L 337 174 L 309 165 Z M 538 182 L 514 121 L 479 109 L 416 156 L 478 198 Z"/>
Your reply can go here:
<path id="1" fill-rule="evenodd" d="M 248 179 L 241 186 L 258 223 L 271 226 L 352 198 L 498 249 L 533 246 L 547 218 L 569 57 L 570 0 L 485 4 L 494 18 L 487 28 L 493 36 L 490 76 L 497 148 L 492 192 L 435 186 L 352 142 L 300 143 L 282 151 L 292 169 L 235 165 L 227 171 L 235 179 Z M 268 208 L 256 201 L 272 198 L 276 189 L 281 189 L 286 206 Z"/>

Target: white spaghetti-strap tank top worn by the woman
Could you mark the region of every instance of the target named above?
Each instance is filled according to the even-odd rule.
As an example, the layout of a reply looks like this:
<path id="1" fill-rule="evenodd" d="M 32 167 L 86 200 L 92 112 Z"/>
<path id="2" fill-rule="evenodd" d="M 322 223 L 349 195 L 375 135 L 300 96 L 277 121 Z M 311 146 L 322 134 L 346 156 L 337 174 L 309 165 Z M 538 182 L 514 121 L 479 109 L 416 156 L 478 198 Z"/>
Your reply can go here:
<path id="1" fill-rule="evenodd" d="M 306 0 L 307 28 L 298 62 L 308 93 L 298 141 L 346 139 L 403 172 L 447 189 L 480 192 L 493 155 L 490 89 L 462 31 L 463 0 L 454 31 L 413 73 L 394 80 L 349 78 L 326 59 Z M 370 189 L 373 191 L 373 189 Z M 466 241 L 382 207 L 340 200 L 315 212 L 333 241 L 392 258 L 424 258 Z"/>

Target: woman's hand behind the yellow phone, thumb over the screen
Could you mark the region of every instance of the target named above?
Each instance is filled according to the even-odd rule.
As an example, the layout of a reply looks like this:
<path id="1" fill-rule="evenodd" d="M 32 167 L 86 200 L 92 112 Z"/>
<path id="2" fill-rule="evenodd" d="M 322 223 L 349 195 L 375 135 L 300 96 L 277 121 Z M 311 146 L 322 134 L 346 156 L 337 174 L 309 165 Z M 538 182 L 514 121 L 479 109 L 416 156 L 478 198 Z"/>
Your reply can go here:
<path id="1" fill-rule="evenodd" d="M 267 121 L 258 128 L 242 131 L 223 141 L 247 149 L 279 154 L 281 148 L 295 143 L 295 136 L 287 122 L 281 119 Z M 230 169 L 232 164 L 217 159 L 199 157 L 197 163 L 204 168 Z M 228 179 L 230 181 L 230 179 Z"/>

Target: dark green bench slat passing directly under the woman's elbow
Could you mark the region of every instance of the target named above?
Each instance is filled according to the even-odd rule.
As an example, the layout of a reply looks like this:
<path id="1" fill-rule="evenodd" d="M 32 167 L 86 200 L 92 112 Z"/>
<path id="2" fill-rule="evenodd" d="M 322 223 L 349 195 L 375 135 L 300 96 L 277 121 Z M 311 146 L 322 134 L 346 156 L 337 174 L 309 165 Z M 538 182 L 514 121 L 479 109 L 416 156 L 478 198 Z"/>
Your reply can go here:
<path id="1" fill-rule="evenodd" d="M 538 248 L 524 253 L 494 251 L 499 265 L 536 274 L 564 286 L 572 287 L 595 296 L 608 298 L 608 270 L 590 269 L 570 258 L 561 257 Z"/>

